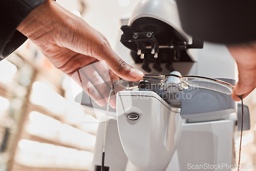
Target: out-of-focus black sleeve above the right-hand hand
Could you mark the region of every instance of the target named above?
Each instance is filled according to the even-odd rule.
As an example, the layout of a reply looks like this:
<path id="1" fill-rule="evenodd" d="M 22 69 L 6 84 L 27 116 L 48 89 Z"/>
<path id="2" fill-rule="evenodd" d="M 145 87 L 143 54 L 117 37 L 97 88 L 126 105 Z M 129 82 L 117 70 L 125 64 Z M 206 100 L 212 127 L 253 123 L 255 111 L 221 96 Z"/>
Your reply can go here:
<path id="1" fill-rule="evenodd" d="M 240 44 L 256 40 L 255 0 L 177 0 L 181 26 L 194 37 Z"/>

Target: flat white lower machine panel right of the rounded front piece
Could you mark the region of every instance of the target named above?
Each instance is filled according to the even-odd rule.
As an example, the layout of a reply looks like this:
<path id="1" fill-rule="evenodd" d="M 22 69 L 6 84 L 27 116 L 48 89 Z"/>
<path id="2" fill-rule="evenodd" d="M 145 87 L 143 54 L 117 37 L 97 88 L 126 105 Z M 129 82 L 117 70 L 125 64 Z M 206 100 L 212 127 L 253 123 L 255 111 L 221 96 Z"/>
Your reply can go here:
<path id="1" fill-rule="evenodd" d="M 233 133 L 236 114 L 229 116 L 230 120 L 183 123 L 180 143 L 165 171 L 230 171 L 228 166 L 210 168 L 218 164 L 234 164 Z M 192 165 L 209 167 L 192 169 Z"/>

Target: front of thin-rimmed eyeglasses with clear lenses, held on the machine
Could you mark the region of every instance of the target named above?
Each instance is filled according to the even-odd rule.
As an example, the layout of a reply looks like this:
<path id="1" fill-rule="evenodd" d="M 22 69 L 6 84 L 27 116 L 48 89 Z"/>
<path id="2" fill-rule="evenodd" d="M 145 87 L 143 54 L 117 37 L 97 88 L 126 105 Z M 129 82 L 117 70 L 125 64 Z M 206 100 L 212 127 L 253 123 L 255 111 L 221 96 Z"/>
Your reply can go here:
<path id="1" fill-rule="evenodd" d="M 202 89 L 213 90 L 225 94 L 232 94 L 233 85 L 227 83 L 222 80 L 195 76 L 195 75 L 175 75 L 175 74 L 167 74 L 167 75 L 155 75 L 155 74 L 146 74 L 140 81 L 146 81 L 149 85 L 148 90 L 154 89 L 163 89 L 165 84 L 168 84 L 173 79 L 179 79 L 178 85 L 183 89 L 188 89 L 189 86 L 197 87 Z M 136 90 L 139 88 L 140 81 L 131 82 L 123 79 L 118 80 L 114 83 L 114 90 L 121 91 L 123 90 Z M 154 87 L 154 88 L 153 88 Z"/>

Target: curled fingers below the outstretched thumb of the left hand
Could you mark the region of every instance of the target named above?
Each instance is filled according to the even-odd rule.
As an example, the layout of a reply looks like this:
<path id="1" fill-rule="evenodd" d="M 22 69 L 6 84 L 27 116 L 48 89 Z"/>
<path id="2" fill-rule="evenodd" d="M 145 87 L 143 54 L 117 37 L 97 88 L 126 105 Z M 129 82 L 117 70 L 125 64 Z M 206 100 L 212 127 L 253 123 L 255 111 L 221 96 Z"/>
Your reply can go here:
<path id="1" fill-rule="evenodd" d="M 71 78 L 79 83 L 83 92 L 87 93 L 98 105 L 103 106 L 110 98 L 110 106 L 116 108 L 116 96 L 112 91 L 112 86 L 118 77 L 106 66 L 104 60 L 77 70 Z M 83 92 L 75 97 L 75 101 L 94 106 L 88 96 L 83 96 Z"/>

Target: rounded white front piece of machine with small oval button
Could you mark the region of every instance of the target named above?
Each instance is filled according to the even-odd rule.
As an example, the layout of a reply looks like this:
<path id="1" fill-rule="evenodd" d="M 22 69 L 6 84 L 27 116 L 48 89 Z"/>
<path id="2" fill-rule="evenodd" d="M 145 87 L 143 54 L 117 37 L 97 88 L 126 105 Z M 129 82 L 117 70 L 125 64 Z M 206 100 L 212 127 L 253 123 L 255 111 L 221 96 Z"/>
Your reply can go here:
<path id="1" fill-rule="evenodd" d="M 139 119 L 128 119 L 131 113 L 139 115 Z M 121 91 L 117 94 L 117 116 L 120 140 L 128 159 L 140 171 L 164 170 L 180 139 L 179 111 L 171 109 L 154 92 Z"/>

